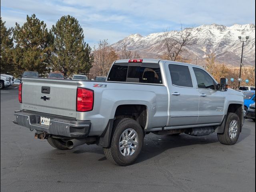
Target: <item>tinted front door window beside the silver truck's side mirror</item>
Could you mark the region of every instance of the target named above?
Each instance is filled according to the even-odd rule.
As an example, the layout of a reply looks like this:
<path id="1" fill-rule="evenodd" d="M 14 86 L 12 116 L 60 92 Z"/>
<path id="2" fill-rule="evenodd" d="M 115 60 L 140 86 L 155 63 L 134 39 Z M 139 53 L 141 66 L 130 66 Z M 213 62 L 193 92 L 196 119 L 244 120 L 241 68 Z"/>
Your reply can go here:
<path id="1" fill-rule="evenodd" d="M 204 88 L 204 89 L 214 89 L 214 80 L 211 78 L 211 76 L 206 73 L 204 70 L 199 68 L 194 68 L 193 70 L 196 75 L 196 81 L 198 88 Z"/>

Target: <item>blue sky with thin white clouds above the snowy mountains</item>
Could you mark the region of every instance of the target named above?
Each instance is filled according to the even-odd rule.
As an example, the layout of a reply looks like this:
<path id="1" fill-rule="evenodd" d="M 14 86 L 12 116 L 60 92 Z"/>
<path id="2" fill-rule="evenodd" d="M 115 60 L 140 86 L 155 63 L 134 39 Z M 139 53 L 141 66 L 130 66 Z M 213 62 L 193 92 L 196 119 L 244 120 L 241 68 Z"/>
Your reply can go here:
<path id="1" fill-rule="evenodd" d="M 63 15 L 78 19 L 85 41 L 100 39 L 112 44 L 139 33 L 143 36 L 202 24 L 255 24 L 255 0 L 1 0 L 6 26 L 22 24 L 36 14 L 48 29 Z"/>

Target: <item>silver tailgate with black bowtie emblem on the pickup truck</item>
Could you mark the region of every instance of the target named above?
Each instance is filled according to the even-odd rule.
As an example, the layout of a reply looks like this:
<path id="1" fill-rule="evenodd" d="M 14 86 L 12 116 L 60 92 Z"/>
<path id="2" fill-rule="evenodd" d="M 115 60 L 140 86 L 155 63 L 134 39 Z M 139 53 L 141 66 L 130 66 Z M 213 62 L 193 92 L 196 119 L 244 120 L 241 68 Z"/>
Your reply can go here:
<path id="1" fill-rule="evenodd" d="M 76 118 L 77 81 L 22 78 L 22 109 Z"/>

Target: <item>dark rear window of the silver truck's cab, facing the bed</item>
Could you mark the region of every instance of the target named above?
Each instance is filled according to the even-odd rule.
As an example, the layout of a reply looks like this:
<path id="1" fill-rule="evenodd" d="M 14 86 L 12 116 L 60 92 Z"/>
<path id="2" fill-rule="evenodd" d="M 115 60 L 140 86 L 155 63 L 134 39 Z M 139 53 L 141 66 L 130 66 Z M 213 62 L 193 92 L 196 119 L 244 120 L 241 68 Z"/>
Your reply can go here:
<path id="1" fill-rule="evenodd" d="M 117 63 L 108 81 L 162 84 L 160 66 L 156 63 Z"/>

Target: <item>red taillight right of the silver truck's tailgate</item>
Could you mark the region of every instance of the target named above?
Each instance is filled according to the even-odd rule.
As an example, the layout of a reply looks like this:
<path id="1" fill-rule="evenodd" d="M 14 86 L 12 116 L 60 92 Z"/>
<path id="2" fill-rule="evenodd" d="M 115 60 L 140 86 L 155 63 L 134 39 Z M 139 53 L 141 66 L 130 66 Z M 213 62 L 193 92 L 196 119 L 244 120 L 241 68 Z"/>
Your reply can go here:
<path id="1" fill-rule="evenodd" d="M 93 109 L 93 100 L 93 90 L 78 87 L 76 92 L 76 111 L 91 111 Z"/>

